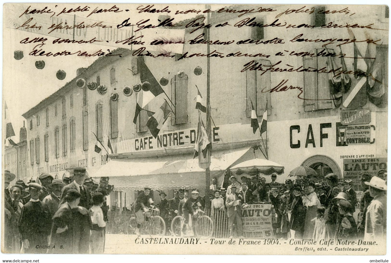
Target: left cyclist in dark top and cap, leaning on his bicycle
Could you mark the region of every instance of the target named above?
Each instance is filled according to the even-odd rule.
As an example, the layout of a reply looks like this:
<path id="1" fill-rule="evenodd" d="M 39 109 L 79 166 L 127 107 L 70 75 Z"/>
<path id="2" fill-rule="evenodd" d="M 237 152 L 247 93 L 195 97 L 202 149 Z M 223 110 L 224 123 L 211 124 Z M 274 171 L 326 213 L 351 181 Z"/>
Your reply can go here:
<path id="1" fill-rule="evenodd" d="M 136 235 L 140 236 L 140 227 L 144 222 L 143 212 L 145 212 L 145 221 L 149 221 L 149 217 L 151 217 L 151 213 L 149 212 L 149 208 L 154 208 L 154 203 L 152 198 L 149 196 L 151 192 L 151 188 L 145 187 L 144 192 L 140 193 L 137 196 L 137 199 L 134 204 L 134 211 L 136 211 L 136 219 L 137 219 L 137 227 L 136 227 Z"/>

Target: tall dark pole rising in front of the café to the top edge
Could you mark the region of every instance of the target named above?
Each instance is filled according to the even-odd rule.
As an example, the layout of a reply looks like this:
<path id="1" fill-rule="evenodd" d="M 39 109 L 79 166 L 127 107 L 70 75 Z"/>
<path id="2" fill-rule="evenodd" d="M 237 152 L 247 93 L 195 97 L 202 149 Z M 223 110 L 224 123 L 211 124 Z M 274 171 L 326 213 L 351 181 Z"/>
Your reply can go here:
<path id="1" fill-rule="evenodd" d="M 206 9 L 210 9 L 210 5 L 206 5 Z M 206 23 L 209 24 L 210 20 L 210 13 L 208 12 L 206 15 Z M 206 28 L 206 37 L 207 37 L 207 54 L 210 53 L 210 28 Z M 210 118 L 210 57 L 206 57 L 206 130 L 209 129 L 211 130 L 211 123 L 208 121 Z M 209 141 L 212 142 L 212 133 L 209 132 L 208 134 Z M 202 154 L 202 153 L 199 153 Z M 205 213 L 208 215 L 209 211 L 209 184 L 210 184 L 210 167 L 205 169 Z"/>

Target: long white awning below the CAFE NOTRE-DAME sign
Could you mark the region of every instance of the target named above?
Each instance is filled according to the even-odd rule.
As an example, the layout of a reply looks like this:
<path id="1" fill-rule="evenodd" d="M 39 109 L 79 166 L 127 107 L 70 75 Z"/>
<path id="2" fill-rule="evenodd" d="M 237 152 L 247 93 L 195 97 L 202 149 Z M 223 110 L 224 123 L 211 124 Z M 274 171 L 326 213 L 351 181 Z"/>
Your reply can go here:
<path id="1" fill-rule="evenodd" d="M 247 146 L 212 151 L 211 178 L 217 177 L 221 183 L 225 170 L 249 150 Z M 193 159 L 193 155 L 188 154 L 112 159 L 92 176 L 108 176 L 115 189 L 141 190 L 148 186 L 161 190 L 204 187 L 204 175 L 205 170 L 198 166 L 198 158 Z"/>

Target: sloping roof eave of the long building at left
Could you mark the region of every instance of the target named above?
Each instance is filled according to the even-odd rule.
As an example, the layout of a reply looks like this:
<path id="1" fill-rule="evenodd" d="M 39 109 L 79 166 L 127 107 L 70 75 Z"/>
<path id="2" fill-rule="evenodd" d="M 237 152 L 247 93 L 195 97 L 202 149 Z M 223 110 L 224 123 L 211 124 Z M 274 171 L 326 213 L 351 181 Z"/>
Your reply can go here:
<path id="1" fill-rule="evenodd" d="M 56 101 L 58 99 L 58 96 L 62 96 L 63 94 L 66 94 L 66 92 L 74 89 L 75 88 L 75 82 L 76 82 L 77 79 L 82 78 L 82 77 L 88 78 L 88 77 L 90 77 L 91 75 L 93 75 L 95 72 L 99 71 L 102 68 L 102 65 L 99 62 L 104 63 L 103 66 L 107 66 L 110 63 L 113 63 L 113 62 L 117 61 L 120 58 L 123 59 L 124 57 L 126 57 L 128 55 L 131 55 L 131 53 L 132 53 L 131 50 L 125 49 L 125 48 L 117 48 L 117 49 L 113 50 L 111 53 L 114 54 L 116 51 L 122 52 L 121 53 L 121 57 L 118 56 L 118 55 L 111 55 L 111 56 L 106 56 L 105 55 L 105 56 L 98 57 L 98 59 L 95 60 L 94 62 L 92 62 L 92 64 L 90 66 L 88 66 L 88 68 L 86 68 L 82 73 L 80 73 L 80 75 L 75 76 L 71 81 L 67 82 L 63 87 L 59 88 L 57 91 L 55 91 L 54 93 L 50 94 L 50 96 L 48 96 L 47 98 L 43 99 L 37 105 L 35 105 L 34 107 L 30 108 L 27 112 L 23 113 L 22 116 L 25 119 L 29 118 L 34 113 L 36 113 L 39 110 L 41 110 L 43 108 L 43 106 L 46 106 L 48 103 L 52 103 L 52 102 Z"/>

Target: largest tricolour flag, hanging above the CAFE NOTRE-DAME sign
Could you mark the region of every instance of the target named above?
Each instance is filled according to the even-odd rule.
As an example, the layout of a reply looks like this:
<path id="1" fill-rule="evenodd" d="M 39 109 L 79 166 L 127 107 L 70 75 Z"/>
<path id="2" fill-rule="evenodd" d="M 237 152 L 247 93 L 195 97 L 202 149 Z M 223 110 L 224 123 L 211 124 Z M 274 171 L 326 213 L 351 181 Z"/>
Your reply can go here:
<path id="1" fill-rule="evenodd" d="M 163 93 L 163 89 L 161 88 L 159 82 L 156 80 L 156 78 L 152 75 L 151 71 L 145 64 L 144 60 L 140 59 L 140 81 L 141 83 L 149 82 L 151 84 L 151 87 L 149 91 L 139 91 L 136 93 L 136 111 L 135 111 L 135 117 L 133 118 L 133 123 L 136 124 L 138 114 L 140 114 L 140 111 L 147 106 L 147 104 L 156 98 L 159 94 Z"/>

